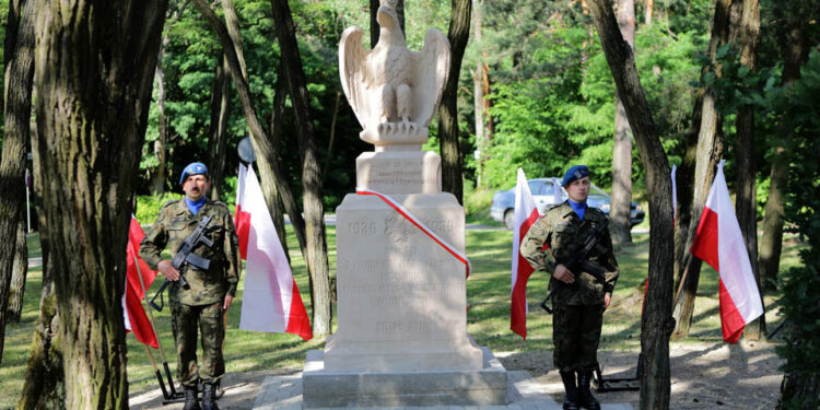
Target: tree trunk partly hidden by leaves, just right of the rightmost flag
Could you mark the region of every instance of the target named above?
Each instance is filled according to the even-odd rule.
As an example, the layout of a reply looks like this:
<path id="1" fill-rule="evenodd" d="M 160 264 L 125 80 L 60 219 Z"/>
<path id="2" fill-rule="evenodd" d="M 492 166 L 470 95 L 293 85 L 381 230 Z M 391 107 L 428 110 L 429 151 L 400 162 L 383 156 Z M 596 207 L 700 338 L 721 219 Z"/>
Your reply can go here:
<path id="1" fill-rule="evenodd" d="M 777 39 L 783 55 L 783 85 L 790 87 L 800 79 L 800 66 L 808 56 L 809 47 L 807 47 L 806 37 L 799 24 L 784 27 Z M 792 130 L 783 121 L 777 126 L 777 133 L 784 141 L 787 141 L 790 139 Z M 774 155 L 772 156 L 769 199 L 763 216 L 763 237 L 760 239 L 760 256 L 758 257 L 760 278 L 766 290 L 776 289 L 780 272 L 788 178 L 788 152 L 785 144 L 776 140 L 773 143 Z"/>

